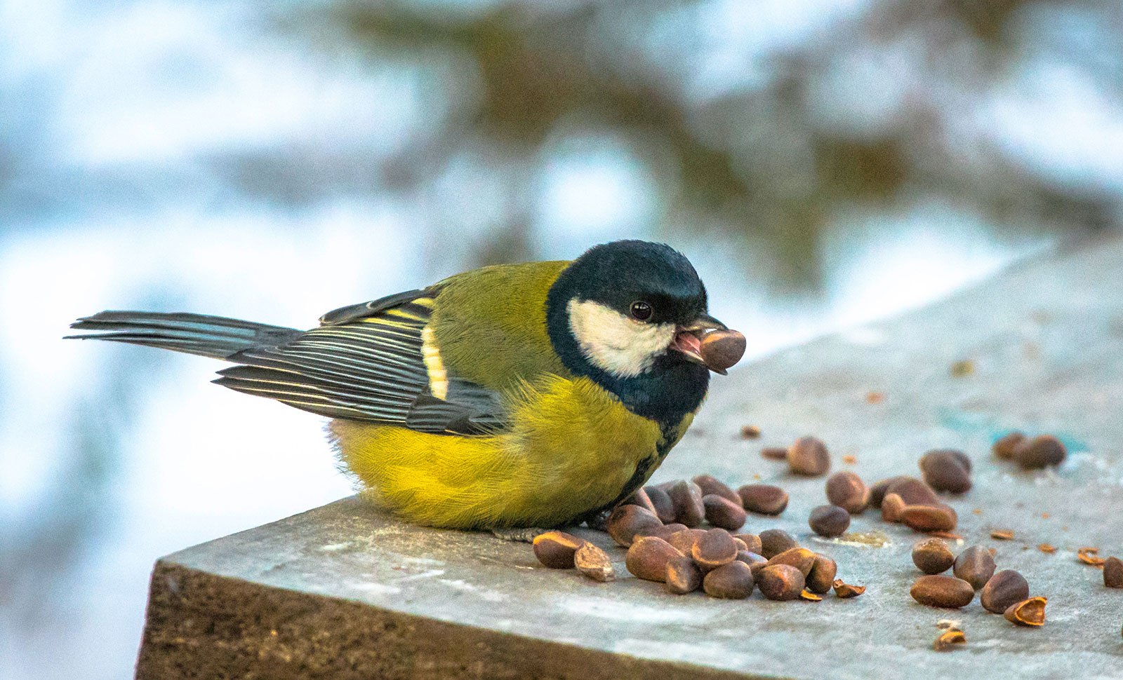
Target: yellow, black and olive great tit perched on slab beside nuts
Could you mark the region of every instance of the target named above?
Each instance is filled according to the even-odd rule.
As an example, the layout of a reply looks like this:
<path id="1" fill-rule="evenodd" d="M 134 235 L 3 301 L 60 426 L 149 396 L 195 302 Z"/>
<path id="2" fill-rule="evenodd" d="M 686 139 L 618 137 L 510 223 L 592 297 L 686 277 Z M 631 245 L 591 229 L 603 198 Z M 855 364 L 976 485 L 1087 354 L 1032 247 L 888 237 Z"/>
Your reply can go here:
<path id="1" fill-rule="evenodd" d="M 705 397 L 703 336 L 725 331 L 686 257 L 638 240 L 466 272 L 308 331 L 112 311 L 71 328 L 231 361 L 214 383 L 330 417 L 380 505 L 493 530 L 576 523 L 643 485 Z"/>

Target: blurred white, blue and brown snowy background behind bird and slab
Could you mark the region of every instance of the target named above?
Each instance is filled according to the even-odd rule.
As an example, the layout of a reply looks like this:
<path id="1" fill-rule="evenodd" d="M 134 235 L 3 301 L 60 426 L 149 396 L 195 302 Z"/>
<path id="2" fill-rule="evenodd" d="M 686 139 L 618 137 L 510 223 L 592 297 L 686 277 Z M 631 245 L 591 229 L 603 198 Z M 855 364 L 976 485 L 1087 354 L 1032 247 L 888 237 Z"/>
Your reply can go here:
<path id="1" fill-rule="evenodd" d="M 1117 0 L 0 0 L 0 678 L 131 677 L 157 557 L 350 493 L 316 416 L 76 316 L 640 237 L 752 358 L 1121 202 Z"/>

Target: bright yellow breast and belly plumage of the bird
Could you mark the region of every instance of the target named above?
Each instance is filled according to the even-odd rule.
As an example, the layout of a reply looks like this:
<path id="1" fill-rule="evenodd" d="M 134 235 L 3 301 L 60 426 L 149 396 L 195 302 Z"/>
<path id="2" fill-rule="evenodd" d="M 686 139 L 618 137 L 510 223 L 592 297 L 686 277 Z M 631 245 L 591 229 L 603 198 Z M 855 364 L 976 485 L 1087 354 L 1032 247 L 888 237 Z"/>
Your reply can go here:
<path id="1" fill-rule="evenodd" d="M 510 428 L 491 437 L 345 420 L 330 430 L 376 502 L 433 526 L 559 525 L 612 503 L 637 466 L 643 481 L 658 466 L 658 425 L 587 378 L 547 376 L 504 397 Z"/>

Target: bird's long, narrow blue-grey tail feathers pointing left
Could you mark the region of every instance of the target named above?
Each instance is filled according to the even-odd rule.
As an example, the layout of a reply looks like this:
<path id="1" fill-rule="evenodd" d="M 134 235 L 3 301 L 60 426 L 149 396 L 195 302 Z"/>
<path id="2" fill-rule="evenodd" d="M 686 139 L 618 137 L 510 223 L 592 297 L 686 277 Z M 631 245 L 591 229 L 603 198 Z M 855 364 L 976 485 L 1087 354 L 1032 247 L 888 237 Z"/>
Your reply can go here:
<path id="1" fill-rule="evenodd" d="M 101 312 L 79 319 L 71 328 L 92 332 L 67 339 L 130 342 L 214 359 L 253 347 L 276 347 L 303 332 L 225 316 L 161 312 Z"/>

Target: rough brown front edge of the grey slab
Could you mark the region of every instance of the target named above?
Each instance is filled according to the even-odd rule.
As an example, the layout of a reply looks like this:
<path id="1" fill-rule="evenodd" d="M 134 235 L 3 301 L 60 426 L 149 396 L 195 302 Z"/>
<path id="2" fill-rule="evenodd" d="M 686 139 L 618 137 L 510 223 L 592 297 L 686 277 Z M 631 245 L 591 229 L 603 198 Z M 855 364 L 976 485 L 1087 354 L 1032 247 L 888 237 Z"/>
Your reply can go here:
<path id="1" fill-rule="evenodd" d="M 167 560 L 153 570 L 136 677 L 754 679 L 263 586 Z"/>

